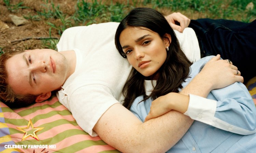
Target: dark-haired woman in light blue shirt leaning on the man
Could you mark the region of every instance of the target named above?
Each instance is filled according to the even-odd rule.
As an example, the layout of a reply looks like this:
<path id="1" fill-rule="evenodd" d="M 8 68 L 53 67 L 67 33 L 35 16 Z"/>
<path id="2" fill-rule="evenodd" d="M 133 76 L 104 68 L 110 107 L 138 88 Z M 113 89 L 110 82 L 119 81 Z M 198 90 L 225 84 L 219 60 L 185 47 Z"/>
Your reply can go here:
<path id="1" fill-rule="evenodd" d="M 147 119 L 151 119 L 172 109 L 197 120 L 170 152 L 256 149 L 256 108 L 242 83 L 212 90 L 208 99 L 177 93 L 205 71 L 203 66 L 211 58 L 219 55 L 204 57 L 191 65 L 165 17 L 151 8 L 134 8 L 120 22 L 115 44 L 134 68 L 124 88 L 125 107 L 141 121 L 148 113 Z M 237 70 L 233 73 L 239 75 Z M 248 134 L 252 135 L 242 136 Z"/>

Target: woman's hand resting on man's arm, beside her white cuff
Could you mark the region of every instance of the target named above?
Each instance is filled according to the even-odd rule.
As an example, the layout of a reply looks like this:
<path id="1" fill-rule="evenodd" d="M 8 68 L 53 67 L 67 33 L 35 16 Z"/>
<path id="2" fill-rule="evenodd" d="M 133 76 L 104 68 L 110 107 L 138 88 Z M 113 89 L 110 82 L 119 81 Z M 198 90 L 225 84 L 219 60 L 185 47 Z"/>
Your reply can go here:
<path id="1" fill-rule="evenodd" d="M 160 96 L 152 102 L 150 112 L 146 116 L 144 122 L 166 114 L 172 109 L 184 114 L 187 111 L 188 104 L 189 96 L 187 95 L 171 92 L 167 95 Z"/>

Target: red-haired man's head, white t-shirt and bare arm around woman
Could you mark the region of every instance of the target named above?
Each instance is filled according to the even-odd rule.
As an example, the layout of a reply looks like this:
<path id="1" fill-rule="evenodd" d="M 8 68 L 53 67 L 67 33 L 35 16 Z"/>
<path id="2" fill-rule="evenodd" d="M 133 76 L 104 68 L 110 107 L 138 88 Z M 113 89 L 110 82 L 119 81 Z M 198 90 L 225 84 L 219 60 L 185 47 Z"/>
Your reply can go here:
<path id="1" fill-rule="evenodd" d="M 179 21 L 179 16 L 174 17 Z M 59 90 L 59 101 L 90 135 L 99 135 L 122 152 L 165 152 L 180 140 L 193 120 L 170 111 L 142 123 L 119 103 L 131 66 L 115 49 L 117 26 L 102 23 L 74 27 L 62 34 L 57 45 L 61 52 L 28 50 L 2 60 L 6 86 L 14 96 L 21 97 L 20 103 L 26 99 L 24 95 L 41 102 Z M 224 63 L 214 58 L 181 93 L 206 97 L 212 89 L 242 82 L 243 78 L 234 73 L 237 68 Z M 1 88 L 2 98 L 3 94 Z"/>

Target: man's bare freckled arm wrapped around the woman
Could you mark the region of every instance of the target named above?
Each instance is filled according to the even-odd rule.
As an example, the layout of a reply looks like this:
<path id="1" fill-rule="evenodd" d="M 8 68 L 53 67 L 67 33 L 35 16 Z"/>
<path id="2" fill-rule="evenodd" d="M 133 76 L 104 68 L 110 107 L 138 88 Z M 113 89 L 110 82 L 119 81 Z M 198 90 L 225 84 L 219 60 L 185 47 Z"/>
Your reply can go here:
<path id="1" fill-rule="evenodd" d="M 217 61 L 219 56 L 213 59 Z M 204 69 L 212 68 L 214 65 L 214 63 L 210 63 L 205 65 Z M 201 71 L 200 75 L 197 75 L 180 93 L 206 97 L 215 87 L 226 86 L 227 81 L 230 84 L 241 81 L 241 76 L 226 75 L 227 69 L 219 67 L 218 70 L 217 72 Z M 222 75 L 219 75 L 220 73 Z M 166 152 L 175 145 L 192 122 L 193 120 L 189 117 L 176 111 L 170 111 L 165 115 L 142 123 L 121 104 L 114 104 L 101 116 L 93 130 L 106 143 L 122 152 L 155 153 Z"/>

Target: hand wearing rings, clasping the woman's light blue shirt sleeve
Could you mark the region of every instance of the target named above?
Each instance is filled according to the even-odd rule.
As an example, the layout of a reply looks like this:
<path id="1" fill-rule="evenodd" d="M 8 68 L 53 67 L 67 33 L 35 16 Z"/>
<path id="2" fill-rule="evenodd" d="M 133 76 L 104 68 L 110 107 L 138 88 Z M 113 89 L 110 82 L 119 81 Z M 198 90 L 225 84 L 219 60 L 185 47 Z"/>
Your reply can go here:
<path id="1" fill-rule="evenodd" d="M 213 57 L 198 74 L 202 81 L 212 85 L 211 90 L 224 88 L 234 82 L 243 82 L 238 68 L 227 60 L 220 60 L 220 57 L 220 55 Z"/>

